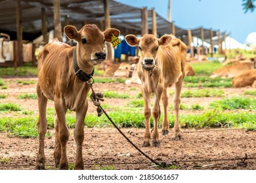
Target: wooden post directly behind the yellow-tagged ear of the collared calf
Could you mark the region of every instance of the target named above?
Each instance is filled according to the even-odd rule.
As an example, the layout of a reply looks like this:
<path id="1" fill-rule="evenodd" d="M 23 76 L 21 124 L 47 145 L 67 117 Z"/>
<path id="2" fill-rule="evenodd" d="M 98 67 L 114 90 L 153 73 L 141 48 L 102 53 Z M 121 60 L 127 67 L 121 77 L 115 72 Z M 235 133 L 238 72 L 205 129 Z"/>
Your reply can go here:
<path id="1" fill-rule="evenodd" d="M 108 7 L 108 0 L 104 0 L 104 16 L 105 16 L 105 30 L 109 29 L 111 27 L 110 23 L 110 8 Z M 107 47 L 107 56 L 106 59 L 113 61 L 114 57 L 112 54 L 112 45 L 110 42 L 106 42 L 106 47 Z"/>

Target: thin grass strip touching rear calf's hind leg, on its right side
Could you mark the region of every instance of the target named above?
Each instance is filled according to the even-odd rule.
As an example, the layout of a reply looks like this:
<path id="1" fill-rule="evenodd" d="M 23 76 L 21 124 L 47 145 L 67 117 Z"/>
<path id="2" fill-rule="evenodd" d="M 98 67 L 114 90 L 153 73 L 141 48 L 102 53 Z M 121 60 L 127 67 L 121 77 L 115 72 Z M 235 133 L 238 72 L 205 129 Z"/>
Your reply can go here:
<path id="1" fill-rule="evenodd" d="M 222 97 L 223 90 L 184 90 L 181 92 L 181 97 Z"/>

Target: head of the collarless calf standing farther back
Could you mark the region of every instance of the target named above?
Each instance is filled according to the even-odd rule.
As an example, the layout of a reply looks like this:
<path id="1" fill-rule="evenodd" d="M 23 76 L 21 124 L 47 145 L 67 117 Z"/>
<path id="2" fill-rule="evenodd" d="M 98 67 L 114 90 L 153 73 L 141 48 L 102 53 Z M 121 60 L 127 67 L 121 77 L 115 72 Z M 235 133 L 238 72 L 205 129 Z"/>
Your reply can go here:
<path id="1" fill-rule="evenodd" d="M 171 42 L 171 35 L 163 35 L 160 39 L 154 35 L 146 34 L 142 38 L 137 38 L 135 35 L 126 35 L 125 41 L 130 46 L 139 46 L 140 60 L 143 69 L 154 69 L 157 62 L 159 46 L 167 46 Z"/>

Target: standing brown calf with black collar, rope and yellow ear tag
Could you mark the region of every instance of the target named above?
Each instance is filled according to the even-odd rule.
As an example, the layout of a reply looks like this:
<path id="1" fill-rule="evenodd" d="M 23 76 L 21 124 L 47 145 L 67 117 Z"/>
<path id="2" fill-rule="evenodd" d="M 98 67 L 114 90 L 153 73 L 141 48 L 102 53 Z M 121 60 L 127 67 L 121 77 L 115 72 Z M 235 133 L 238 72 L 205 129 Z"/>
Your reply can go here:
<path id="1" fill-rule="evenodd" d="M 79 31 L 74 26 L 64 27 L 66 36 L 77 41 L 76 47 L 59 42 L 45 45 L 38 56 L 38 107 L 39 151 L 36 169 L 45 169 L 44 138 L 47 131 L 47 100 L 54 101 L 55 115 L 55 165 L 68 169 L 66 146 L 70 132 L 66 125 L 66 111 L 76 112 L 74 137 L 76 142 L 75 169 L 83 169 L 82 145 L 84 120 L 88 108 L 87 84 L 93 76 L 95 64 L 104 60 L 104 41 L 111 42 L 112 35 L 119 36 L 117 29 L 102 33 L 96 25 L 85 25 Z"/>

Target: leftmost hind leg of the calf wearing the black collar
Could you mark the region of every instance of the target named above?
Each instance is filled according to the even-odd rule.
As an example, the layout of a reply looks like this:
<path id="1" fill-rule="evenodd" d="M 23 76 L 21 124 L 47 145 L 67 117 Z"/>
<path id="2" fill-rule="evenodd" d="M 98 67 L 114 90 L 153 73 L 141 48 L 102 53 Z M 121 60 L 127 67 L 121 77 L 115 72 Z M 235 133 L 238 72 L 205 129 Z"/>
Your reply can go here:
<path id="1" fill-rule="evenodd" d="M 47 98 L 43 95 L 40 86 L 37 84 L 37 97 L 38 97 L 38 108 L 39 118 L 37 121 L 37 131 L 39 135 L 39 150 L 37 153 L 35 169 L 45 169 L 45 133 L 47 132 L 47 118 L 46 118 L 46 107 Z"/>

